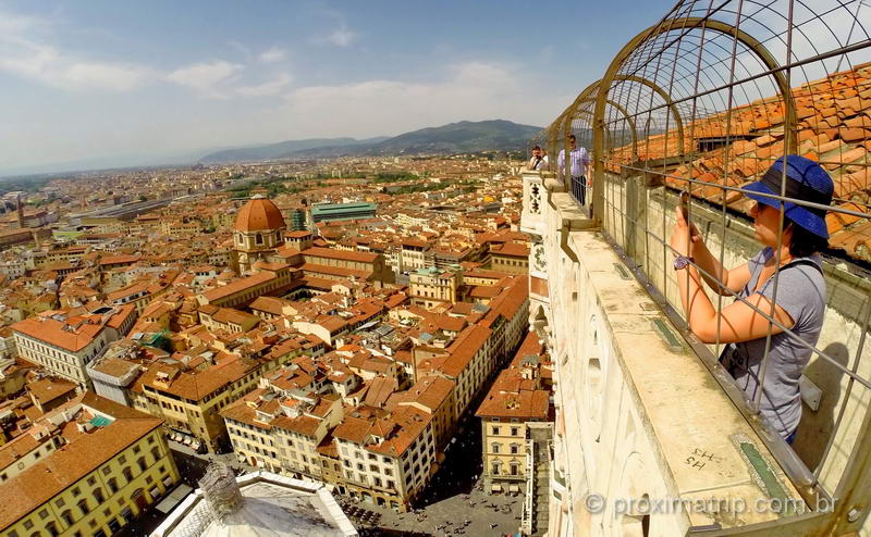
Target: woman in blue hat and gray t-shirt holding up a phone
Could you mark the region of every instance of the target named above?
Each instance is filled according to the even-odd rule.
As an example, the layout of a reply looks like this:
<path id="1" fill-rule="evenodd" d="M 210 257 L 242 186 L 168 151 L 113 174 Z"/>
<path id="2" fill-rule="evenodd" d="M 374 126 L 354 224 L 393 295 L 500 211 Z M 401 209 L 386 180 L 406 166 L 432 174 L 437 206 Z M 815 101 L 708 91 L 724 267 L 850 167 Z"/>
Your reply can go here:
<path id="1" fill-rule="evenodd" d="M 720 362 L 753 402 L 752 408 L 758 404 L 769 425 L 793 444 L 801 420 L 798 380 L 811 354 L 796 336 L 810 346 L 815 346 L 820 337 L 825 278 L 819 252 L 827 246 L 829 232 L 825 210 L 792 201 L 782 204 L 778 199 L 760 196 L 781 195 L 784 167 L 786 198 L 831 204 L 834 185 L 825 170 L 817 162 L 790 154 L 778 159 L 761 180 L 744 189 L 756 201 L 750 215 L 755 238 L 764 247 L 748 262 L 725 270 L 696 227 L 687 222 L 682 207 L 677 209 L 670 243 L 677 254 L 674 267 L 679 273 L 677 282 L 689 328 L 706 344 L 729 344 Z M 778 241 L 781 211 L 783 234 Z M 702 289 L 697 266 L 715 292 L 737 295 L 735 302 L 719 314 Z M 785 334 L 770 317 L 795 336 Z M 772 336 L 765 364 L 769 332 Z"/>

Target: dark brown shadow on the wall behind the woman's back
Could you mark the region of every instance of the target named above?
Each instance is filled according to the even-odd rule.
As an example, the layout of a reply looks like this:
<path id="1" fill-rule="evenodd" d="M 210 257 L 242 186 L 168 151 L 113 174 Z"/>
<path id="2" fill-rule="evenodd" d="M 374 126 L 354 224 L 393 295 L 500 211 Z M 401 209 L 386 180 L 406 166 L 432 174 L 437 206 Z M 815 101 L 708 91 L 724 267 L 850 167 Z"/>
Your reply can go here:
<path id="1" fill-rule="evenodd" d="M 823 352 L 845 367 L 849 362 L 850 351 L 844 344 L 830 344 Z M 823 395 L 817 412 L 802 403 L 801 423 L 798 425 L 793 449 L 811 471 L 820 464 L 825 446 L 832 436 L 841 402 L 841 382 L 845 375 L 824 358 L 817 358 L 805 370 L 805 376 L 817 385 Z"/>

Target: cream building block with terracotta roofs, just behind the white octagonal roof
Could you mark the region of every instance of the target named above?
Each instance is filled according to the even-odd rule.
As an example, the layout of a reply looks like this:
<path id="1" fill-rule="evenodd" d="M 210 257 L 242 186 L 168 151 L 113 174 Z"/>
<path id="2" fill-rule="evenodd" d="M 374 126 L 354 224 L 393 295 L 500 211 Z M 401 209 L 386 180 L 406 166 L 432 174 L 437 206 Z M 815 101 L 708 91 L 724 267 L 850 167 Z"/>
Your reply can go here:
<path id="1" fill-rule="evenodd" d="M 365 502 L 407 510 L 436 463 L 433 420 L 451 420 L 453 413 L 450 391 L 434 394 L 443 391 L 446 380 L 426 389 L 428 396 L 397 400 L 392 412 L 376 416 L 366 410 L 346 413 L 338 394 L 315 396 L 315 384 L 294 384 L 306 378 L 314 383 L 311 377 L 291 374 L 291 384 L 263 378 L 261 389 L 221 412 L 240 460 L 330 483 L 340 494 Z"/>

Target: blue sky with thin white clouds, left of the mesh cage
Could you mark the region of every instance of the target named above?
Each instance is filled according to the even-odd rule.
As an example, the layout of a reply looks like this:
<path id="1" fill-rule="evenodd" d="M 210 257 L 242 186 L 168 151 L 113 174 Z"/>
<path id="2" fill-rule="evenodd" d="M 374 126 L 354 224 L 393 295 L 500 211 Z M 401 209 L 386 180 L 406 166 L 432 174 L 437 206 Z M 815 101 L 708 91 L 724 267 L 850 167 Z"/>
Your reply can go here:
<path id="1" fill-rule="evenodd" d="M 0 175 L 549 124 L 673 0 L 0 0 Z"/>

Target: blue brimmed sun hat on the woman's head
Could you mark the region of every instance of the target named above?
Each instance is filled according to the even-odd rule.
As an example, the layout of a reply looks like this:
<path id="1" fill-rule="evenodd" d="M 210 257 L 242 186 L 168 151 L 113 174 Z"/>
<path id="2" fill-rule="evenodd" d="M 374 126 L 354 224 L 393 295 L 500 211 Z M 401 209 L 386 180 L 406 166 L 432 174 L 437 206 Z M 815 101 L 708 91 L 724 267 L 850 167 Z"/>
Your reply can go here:
<path id="1" fill-rule="evenodd" d="M 781 200 L 753 195 L 752 192 L 780 196 L 784 167 L 786 167 L 784 190 L 787 198 L 810 201 L 821 205 L 832 203 L 835 185 L 832 183 L 829 172 L 823 170 L 819 163 L 797 154 L 787 154 L 777 159 L 760 180 L 744 187 L 745 195 L 753 201 L 778 209 Z M 784 215 L 795 222 L 797 226 L 801 226 L 824 239 L 829 238 L 824 209 L 797 205 L 790 201 L 784 202 L 783 208 Z"/>

